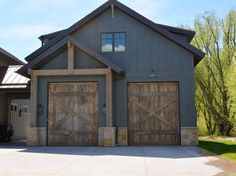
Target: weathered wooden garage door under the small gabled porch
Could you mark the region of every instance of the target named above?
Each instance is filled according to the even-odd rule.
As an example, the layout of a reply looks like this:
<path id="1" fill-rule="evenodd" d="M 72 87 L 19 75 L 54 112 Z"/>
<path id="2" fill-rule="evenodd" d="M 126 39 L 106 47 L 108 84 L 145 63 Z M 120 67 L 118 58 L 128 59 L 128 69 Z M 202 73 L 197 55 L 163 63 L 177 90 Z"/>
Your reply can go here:
<path id="1" fill-rule="evenodd" d="M 98 84 L 49 84 L 48 145 L 97 145 Z"/>

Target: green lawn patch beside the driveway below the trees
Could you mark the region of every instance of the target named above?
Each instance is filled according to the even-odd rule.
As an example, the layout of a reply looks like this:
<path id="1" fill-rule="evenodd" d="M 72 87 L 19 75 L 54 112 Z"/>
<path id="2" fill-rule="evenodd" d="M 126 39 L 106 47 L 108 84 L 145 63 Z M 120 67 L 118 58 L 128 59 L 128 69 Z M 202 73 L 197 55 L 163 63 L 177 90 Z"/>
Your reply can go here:
<path id="1" fill-rule="evenodd" d="M 199 147 L 236 161 L 236 142 L 199 139 Z"/>

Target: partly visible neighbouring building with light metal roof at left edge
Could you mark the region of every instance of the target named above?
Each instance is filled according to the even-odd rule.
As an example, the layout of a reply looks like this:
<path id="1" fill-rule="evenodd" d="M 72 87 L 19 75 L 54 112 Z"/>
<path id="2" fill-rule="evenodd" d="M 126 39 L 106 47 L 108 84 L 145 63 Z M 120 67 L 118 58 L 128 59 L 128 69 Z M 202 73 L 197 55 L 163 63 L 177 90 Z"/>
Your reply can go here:
<path id="1" fill-rule="evenodd" d="M 0 141 L 13 127 L 13 140 L 26 140 L 30 115 L 29 79 L 16 73 L 25 63 L 0 48 Z M 6 138 L 5 138 L 6 139 Z"/>

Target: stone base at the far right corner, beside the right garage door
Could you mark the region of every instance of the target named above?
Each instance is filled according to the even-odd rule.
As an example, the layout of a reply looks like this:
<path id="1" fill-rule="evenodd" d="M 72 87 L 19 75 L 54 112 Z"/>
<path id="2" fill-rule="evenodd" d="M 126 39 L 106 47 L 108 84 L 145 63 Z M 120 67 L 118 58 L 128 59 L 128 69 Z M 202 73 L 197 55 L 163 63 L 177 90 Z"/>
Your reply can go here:
<path id="1" fill-rule="evenodd" d="M 197 127 L 181 127 L 181 145 L 198 145 Z"/>

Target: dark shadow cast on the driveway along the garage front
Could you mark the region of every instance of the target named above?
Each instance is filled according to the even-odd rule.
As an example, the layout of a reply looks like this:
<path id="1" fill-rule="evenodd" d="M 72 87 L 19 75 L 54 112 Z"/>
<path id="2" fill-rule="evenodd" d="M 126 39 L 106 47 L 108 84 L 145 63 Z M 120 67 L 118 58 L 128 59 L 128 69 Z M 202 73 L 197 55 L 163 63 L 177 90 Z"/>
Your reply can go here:
<path id="1" fill-rule="evenodd" d="M 7 146 L 0 146 L 7 148 Z M 151 147 L 14 147 L 19 152 L 62 155 L 86 155 L 86 156 L 130 156 L 130 157 L 154 157 L 154 158 L 195 158 L 203 154 L 198 147 L 183 146 L 151 146 Z M 210 154 L 207 153 L 209 156 Z"/>

